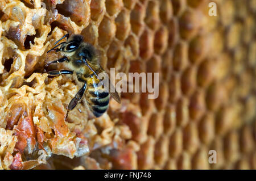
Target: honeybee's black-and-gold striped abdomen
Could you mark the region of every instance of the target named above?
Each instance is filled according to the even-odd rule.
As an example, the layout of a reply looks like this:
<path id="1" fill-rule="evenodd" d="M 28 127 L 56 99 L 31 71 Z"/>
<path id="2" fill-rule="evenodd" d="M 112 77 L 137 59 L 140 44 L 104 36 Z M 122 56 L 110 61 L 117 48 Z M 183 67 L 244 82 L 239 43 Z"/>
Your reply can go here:
<path id="1" fill-rule="evenodd" d="M 104 92 L 102 87 L 97 87 L 98 79 L 88 78 L 85 91 L 86 102 L 94 116 L 100 117 L 109 107 L 109 92 Z M 102 90 L 102 91 L 101 91 Z"/>

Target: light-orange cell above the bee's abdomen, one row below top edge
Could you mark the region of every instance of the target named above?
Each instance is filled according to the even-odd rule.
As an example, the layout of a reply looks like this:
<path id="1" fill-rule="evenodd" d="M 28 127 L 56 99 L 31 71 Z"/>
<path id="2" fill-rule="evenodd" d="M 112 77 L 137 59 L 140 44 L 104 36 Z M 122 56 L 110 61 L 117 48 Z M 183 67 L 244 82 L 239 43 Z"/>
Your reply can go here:
<path id="1" fill-rule="evenodd" d="M 115 36 L 115 23 L 114 20 L 104 16 L 100 26 L 98 27 L 98 44 L 101 47 L 108 45 Z"/>

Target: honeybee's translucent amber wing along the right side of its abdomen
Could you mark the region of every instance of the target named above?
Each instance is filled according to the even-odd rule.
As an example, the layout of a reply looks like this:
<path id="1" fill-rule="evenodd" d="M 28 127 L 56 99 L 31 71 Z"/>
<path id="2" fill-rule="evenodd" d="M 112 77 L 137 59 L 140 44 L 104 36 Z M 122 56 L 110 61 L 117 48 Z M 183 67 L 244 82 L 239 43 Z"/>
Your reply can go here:
<path id="1" fill-rule="evenodd" d="M 96 75 L 96 77 L 100 80 L 100 78 L 98 77 L 98 74 L 105 72 L 104 69 L 101 66 L 97 68 L 96 66 L 93 66 L 93 65 L 89 65 L 89 64 L 86 64 L 86 65 L 88 66 L 88 68 L 90 70 L 93 71 L 94 75 Z M 110 79 L 109 79 L 109 85 L 110 86 L 108 86 L 108 85 L 104 85 L 104 86 L 106 86 L 106 89 L 109 90 L 109 94 L 115 99 L 115 101 L 118 103 L 121 103 L 121 100 L 117 93 L 117 90 L 115 90 L 115 87 L 110 82 Z M 114 92 L 112 92 L 113 90 L 114 90 Z"/>

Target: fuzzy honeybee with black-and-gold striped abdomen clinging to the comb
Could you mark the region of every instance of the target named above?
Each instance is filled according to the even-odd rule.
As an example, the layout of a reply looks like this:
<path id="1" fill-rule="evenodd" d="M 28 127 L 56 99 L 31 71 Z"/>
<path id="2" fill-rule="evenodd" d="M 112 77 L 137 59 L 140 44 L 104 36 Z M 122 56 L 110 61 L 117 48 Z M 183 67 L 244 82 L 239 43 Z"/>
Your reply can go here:
<path id="1" fill-rule="evenodd" d="M 67 37 L 67 41 L 57 44 L 65 37 Z M 104 85 L 104 88 L 102 86 L 98 86 L 98 83 L 101 82 L 98 74 L 103 72 L 105 73 L 105 71 L 100 66 L 100 59 L 98 58 L 96 49 L 93 45 L 85 43 L 81 35 L 71 35 L 69 37 L 69 34 L 66 34 L 61 37 L 60 40 L 56 41 L 55 45 L 57 45 L 48 50 L 47 53 L 55 50 L 55 52 L 60 52 L 63 57 L 59 60 L 49 62 L 46 66 L 53 63 L 63 62 L 65 67 L 69 70 L 52 70 L 48 71 L 48 74 L 76 75 L 77 82 L 80 82 L 82 86 L 71 102 L 69 102 L 65 119 L 67 119 L 69 111 L 76 107 L 84 94 L 89 110 L 92 111 L 96 117 L 100 117 L 108 109 L 110 95 L 120 103 L 119 95 L 117 91 L 113 89 L 113 85 L 109 80 L 110 86 L 105 87 Z M 110 91 L 110 88 L 111 90 L 114 90 L 114 92 Z M 102 89 L 108 89 L 108 91 L 104 91 Z"/>

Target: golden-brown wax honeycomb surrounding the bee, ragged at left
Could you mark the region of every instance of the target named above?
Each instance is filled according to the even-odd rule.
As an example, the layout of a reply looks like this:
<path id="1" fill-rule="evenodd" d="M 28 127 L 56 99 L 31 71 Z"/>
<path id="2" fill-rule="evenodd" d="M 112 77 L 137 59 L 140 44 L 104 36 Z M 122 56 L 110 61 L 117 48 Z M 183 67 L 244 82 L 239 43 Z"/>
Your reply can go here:
<path id="1" fill-rule="evenodd" d="M 255 15 L 255 0 L 1 0 L 0 169 L 256 169 Z M 108 73 L 159 73 L 158 98 L 64 121 L 79 87 L 45 65 L 67 32 Z"/>

